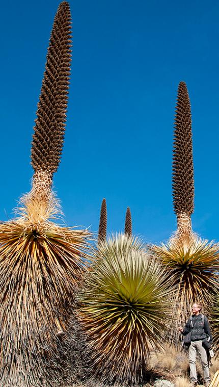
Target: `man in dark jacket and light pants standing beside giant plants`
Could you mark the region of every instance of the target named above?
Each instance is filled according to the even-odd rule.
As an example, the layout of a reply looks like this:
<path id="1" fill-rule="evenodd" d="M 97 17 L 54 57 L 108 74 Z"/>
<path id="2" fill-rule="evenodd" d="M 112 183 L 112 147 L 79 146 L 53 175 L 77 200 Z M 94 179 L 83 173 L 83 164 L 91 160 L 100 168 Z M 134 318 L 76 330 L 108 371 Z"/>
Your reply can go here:
<path id="1" fill-rule="evenodd" d="M 191 332 L 191 344 L 188 350 L 191 383 L 194 386 L 197 385 L 196 355 L 198 353 L 201 358 L 205 387 L 207 387 L 210 383 L 210 376 L 206 348 L 210 348 L 212 336 L 208 319 L 201 314 L 202 305 L 195 303 L 192 310 L 193 316 L 188 319 L 184 329 L 179 328 L 179 330 L 183 336 Z"/>

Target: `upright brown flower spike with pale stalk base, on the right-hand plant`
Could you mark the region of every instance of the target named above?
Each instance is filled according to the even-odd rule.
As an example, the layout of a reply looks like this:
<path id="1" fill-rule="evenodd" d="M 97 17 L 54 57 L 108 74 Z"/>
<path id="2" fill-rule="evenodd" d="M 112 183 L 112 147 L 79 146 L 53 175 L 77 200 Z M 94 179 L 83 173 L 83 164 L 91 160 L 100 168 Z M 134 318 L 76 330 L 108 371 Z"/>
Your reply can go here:
<path id="1" fill-rule="evenodd" d="M 178 87 L 174 128 L 173 205 L 178 235 L 189 238 L 194 211 L 194 170 L 190 100 L 185 82 Z"/>

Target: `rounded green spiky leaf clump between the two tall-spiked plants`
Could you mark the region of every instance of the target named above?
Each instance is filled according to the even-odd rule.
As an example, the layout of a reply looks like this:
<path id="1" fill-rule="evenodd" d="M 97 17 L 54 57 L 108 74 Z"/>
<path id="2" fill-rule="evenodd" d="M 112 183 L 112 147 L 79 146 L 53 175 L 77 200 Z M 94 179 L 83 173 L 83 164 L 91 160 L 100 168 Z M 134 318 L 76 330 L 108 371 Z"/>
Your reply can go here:
<path id="1" fill-rule="evenodd" d="M 117 235 L 98 246 L 80 295 L 80 320 L 102 379 L 142 379 L 150 348 L 160 348 L 168 325 L 166 277 L 138 239 Z"/>

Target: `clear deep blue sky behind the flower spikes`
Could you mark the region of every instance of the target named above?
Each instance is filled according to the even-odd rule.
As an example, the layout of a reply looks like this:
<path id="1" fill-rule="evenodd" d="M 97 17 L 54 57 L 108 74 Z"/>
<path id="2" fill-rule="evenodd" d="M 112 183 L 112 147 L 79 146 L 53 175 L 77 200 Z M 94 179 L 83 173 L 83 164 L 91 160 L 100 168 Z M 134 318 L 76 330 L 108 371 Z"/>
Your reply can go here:
<path id="1" fill-rule="evenodd" d="M 30 190 L 30 148 L 46 49 L 59 2 L 1 4 L 0 219 Z M 219 3 L 209 0 L 75 0 L 66 137 L 54 187 L 68 225 L 108 231 L 126 207 L 146 241 L 176 229 L 172 141 L 177 87 L 193 117 L 193 228 L 219 239 Z"/>

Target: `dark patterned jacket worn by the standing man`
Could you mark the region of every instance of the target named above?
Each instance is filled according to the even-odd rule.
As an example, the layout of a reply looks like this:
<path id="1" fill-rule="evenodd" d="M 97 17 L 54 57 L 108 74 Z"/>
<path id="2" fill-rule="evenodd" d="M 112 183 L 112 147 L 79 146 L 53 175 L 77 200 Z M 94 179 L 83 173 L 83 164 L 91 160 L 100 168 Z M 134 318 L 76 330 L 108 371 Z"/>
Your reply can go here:
<path id="1" fill-rule="evenodd" d="M 204 340 L 206 338 L 210 338 L 209 341 L 212 341 L 208 319 L 202 314 L 199 314 L 198 316 L 193 315 L 188 319 L 182 331 L 183 336 L 189 331 L 191 331 L 191 341 Z"/>

